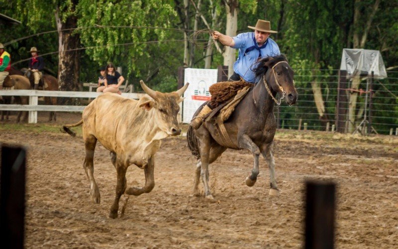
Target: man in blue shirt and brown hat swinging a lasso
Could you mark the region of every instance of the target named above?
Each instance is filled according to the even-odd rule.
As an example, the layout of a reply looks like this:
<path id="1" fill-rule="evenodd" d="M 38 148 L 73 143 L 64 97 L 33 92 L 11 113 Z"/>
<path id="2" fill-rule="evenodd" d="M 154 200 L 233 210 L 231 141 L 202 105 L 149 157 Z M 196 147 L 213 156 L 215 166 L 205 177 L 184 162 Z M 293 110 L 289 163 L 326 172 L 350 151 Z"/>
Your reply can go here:
<path id="1" fill-rule="evenodd" d="M 271 38 L 271 33 L 277 31 L 271 30 L 271 23 L 266 20 L 259 19 L 256 26 L 248 26 L 254 29 L 254 32 L 246 32 L 231 37 L 221 34 L 218 31 L 212 33 L 213 39 L 219 40 L 223 45 L 239 49 L 239 56 L 233 65 L 233 74 L 229 81 L 246 81 L 255 83 L 255 74 L 253 68 L 257 61 L 268 56 L 276 56 L 279 51 L 278 44 Z M 202 111 L 191 121 L 191 126 L 198 129 L 203 123 L 203 117 L 211 112 L 214 106 L 211 101 L 203 107 Z"/>

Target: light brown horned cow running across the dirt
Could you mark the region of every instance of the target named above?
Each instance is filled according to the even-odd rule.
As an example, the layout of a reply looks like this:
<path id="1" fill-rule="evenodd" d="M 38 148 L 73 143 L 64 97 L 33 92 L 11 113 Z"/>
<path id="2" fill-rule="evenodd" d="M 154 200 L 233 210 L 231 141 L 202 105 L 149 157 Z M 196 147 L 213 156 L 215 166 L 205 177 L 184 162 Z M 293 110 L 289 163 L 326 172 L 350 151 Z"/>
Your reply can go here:
<path id="1" fill-rule="evenodd" d="M 188 84 L 177 92 L 160 93 L 148 88 L 143 81 L 140 83 L 147 95 L 138 101 L 105 93 L 85 108 L 83 119 L 79 123 L 63 126 L 66 132 L 74 135 L 69 127 L 83 124 L 86 147 L 83 165 L 90 180 L 91 198 L 95 203 L 100 203 L 93 162 L 97 140 L 110 151 L 111 161 L 117 172 L 116 196 L 110 208 L 110 218 L 117 217 L 119 200 L 123 193 L 141 195 L 151 192 L 155 186 L 154 154 L 160 147 L 161 139 L 181 134 L 177 122 L 180 110 L 178 103 L 183 100 L 181 96 L 187 90 Z M 131 164 L 144 169 L 144 187 L 127 188 L 125 174 Z"/>

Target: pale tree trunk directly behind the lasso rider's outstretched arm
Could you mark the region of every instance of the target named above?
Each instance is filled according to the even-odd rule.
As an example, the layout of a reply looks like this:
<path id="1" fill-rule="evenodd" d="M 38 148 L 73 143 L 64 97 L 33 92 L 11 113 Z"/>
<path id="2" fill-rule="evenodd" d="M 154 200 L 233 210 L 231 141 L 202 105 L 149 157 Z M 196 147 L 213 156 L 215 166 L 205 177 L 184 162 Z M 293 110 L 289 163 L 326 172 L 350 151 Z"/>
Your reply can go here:
<path id="1" fill-rule="evenodd" d="M 228 36 L 235 36 L 238 27 L 238 0 L 225 1 L 225 8 L 227 10 L 227 22 L 225 34 Z M 235 62 L 235 49 L 225 46 L 223 53 L 224 66 L 228 66 L 228 77 L 233 74 L 233 63 Z"/>

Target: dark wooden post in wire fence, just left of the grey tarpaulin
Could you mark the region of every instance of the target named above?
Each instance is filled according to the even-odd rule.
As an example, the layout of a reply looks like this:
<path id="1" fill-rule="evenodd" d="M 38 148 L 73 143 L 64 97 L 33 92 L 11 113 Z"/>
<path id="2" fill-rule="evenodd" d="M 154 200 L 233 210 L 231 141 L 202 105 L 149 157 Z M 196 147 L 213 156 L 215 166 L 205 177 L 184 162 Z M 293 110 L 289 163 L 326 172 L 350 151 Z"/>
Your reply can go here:
<path id="1" fill-rule="evenodd" d="M 337 103 L 336 103 L 336 130 L 344 133 L 345 131 L 345 119 L 347 113 L 347 94 L 348 88 L 347 83 L 347 71 L 339 70 L 338 85 L 337 85 Z"/>

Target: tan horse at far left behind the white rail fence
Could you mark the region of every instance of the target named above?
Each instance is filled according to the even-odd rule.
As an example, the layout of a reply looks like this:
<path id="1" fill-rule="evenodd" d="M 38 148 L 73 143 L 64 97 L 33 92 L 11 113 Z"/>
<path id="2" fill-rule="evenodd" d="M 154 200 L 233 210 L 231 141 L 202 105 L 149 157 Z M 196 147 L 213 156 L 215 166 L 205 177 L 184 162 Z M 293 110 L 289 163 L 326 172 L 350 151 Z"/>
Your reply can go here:
<path id="1" fill-rule="evenodd" d="M 21 75 L 11 75 L 7 76 L 4 79 L 3 84 L 4 90 L 6 89 L 13 89 L 13 90 L 29 90 L 30 83 L 26 77 Z M 15 103 L 19 105 L 28 105 L 29 104 L 29 97 L 27 96 L 14 96 Z M 4 96 L 3 97 L 3 104 L 11 104 L 11 96 Z M 23 119 L 22 122 L 27 122 L 28 120 L 28 112 L 23 112 Z M 6 116 L 6 120 L 8 120 L 8 111 L 1 111 L 1 121 L 4 120 L 4 115 Z M 22 111 L 18 113 L 18 117 L 16 118 L 16 122 L 19 123 L 21 120 Z"/>

